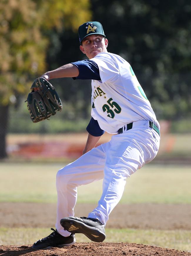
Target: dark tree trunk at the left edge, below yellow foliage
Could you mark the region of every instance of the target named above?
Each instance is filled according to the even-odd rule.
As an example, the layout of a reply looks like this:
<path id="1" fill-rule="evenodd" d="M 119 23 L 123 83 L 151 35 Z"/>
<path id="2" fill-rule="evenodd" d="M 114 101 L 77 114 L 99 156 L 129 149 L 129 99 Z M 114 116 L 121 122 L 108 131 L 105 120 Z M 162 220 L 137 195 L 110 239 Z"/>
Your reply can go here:
<path id="1" fill-rule="evenodd" d="M 8 125 L 9 106 L 0 105 L 0 159 L 7 156 L 6 153 L 6 134 Z"/>

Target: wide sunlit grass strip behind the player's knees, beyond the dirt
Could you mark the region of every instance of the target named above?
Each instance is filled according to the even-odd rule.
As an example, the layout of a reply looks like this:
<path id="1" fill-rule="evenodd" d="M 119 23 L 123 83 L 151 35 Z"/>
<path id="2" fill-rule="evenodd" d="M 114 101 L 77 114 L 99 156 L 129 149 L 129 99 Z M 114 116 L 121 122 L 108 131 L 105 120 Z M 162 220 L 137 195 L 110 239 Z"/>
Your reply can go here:
<path id="1" fill-rule="evenodd" d="M 61 164 L 0 163 L 1 202 L 56 202 Z M 127 179 L 120 203 L 191 203 L 191 168 L 147 164 Z M 78 203 L 96 203 L 102 181 L 78 188 Z"/>

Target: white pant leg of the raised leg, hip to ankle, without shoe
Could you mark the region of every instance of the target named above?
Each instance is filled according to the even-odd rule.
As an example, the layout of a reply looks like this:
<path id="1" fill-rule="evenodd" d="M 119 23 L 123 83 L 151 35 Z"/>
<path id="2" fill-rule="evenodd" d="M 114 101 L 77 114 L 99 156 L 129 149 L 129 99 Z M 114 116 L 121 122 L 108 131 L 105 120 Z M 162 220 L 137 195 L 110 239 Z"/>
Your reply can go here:
<path id="1" fill-rule="evenodd" d="M 145 121 L 138 122 L 133 129 L 113 136 L 106 152 L 103 194 L 98 207 L 88 216 L 103 224 L 122 197 L 126 178 L 150 162 L 158 152 L 160 137 L 154 130 L 145 129 Z"/>

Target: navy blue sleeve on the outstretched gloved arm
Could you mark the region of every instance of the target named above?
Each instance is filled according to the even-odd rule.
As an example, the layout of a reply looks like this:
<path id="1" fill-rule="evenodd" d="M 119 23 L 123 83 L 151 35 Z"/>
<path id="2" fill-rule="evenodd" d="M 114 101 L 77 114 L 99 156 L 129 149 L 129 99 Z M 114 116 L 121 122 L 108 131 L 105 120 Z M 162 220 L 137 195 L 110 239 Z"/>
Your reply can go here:
<path id="1" fill-rule="evenodd" d="M 79 76 L 73 77 L 73 79 L 91 79 L 91 80 L 101 80 L 98 65 L 95 61 L 84 60 L 72 62 L 77 66 L 79 70 Z"/>

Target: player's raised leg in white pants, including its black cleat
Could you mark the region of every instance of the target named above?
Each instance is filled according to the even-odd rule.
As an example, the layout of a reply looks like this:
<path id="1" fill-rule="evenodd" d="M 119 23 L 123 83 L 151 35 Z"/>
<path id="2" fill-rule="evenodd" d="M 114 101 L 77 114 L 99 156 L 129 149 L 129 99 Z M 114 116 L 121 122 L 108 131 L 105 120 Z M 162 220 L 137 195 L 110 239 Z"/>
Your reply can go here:
<path id="1" fill-rule="evenodd" d="M 158 152 L 160 138 L 147 124 L 148 121 L 135 122 L 132 130 L 112 137 L 110 146 L 105 148 L 103 194 L 98 207 L 88 218 L 61 219 L 65 229 L 83 233 L 94 242 L 105 239 L 104 226 L 123 194 L 126 178 L 150 162 Z"/>

